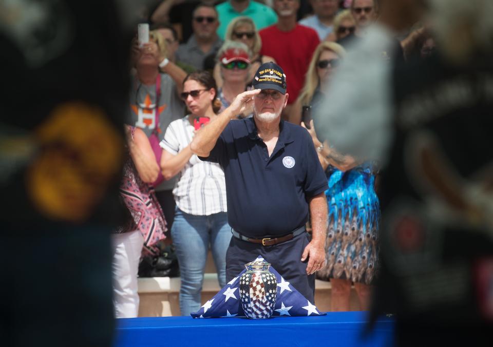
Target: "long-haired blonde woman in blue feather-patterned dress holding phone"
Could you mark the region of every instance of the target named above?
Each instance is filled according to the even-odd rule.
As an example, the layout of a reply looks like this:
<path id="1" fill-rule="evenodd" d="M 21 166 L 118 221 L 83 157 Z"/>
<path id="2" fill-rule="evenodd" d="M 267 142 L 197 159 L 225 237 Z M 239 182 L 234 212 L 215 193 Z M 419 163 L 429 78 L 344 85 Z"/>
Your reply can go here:
<path id="1" fill-rule="evenodd" d="M 336 43 L 323 42 L 317 47 L 298 99 L 300 105 L 320 107 L 331 72 L 344 56 L 344 48 Z M 326 191 L 329 206 L 327 263 L 316 276 L 331 282 L 331 311 L 349 311 L 352 283 L 361 310 L 367 310 L 378 256 L 380 204 L 374 190 L 375 166 L 341 155 L 327 142 L 321 143 L 313 121 L 306 119 L 305 122 L 301 125 L 309 128 L 329 183 Z"/>

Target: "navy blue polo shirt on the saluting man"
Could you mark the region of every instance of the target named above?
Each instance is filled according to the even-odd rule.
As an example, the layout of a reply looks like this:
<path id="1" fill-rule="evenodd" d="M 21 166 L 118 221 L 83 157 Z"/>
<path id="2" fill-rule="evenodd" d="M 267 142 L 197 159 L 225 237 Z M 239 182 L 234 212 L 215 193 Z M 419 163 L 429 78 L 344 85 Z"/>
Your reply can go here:
<path id="1" fill-rule="evenodd" d="M 227 220 L 245 236 L 288 234 L 308 220 L 308 199 L 327 178 L 308 131 L 280 122 L 269 158 L 254 118 L 231 121 L 205 161 L 219 163 L 226 179 Z"/>

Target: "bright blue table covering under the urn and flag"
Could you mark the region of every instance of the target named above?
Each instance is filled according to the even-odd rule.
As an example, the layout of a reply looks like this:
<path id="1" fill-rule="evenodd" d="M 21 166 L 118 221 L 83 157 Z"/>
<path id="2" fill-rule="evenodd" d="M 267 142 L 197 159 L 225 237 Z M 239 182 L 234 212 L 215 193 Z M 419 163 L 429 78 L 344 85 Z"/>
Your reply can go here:
<path id="1" fill-rule="evenodd" d="M 393 320 L 378 320 L 363 337 L 364 312 L 318 317 L 247 318 L 156 317 L 117 319 L 115 347 L 137 346 L 388 346 Z"/>

